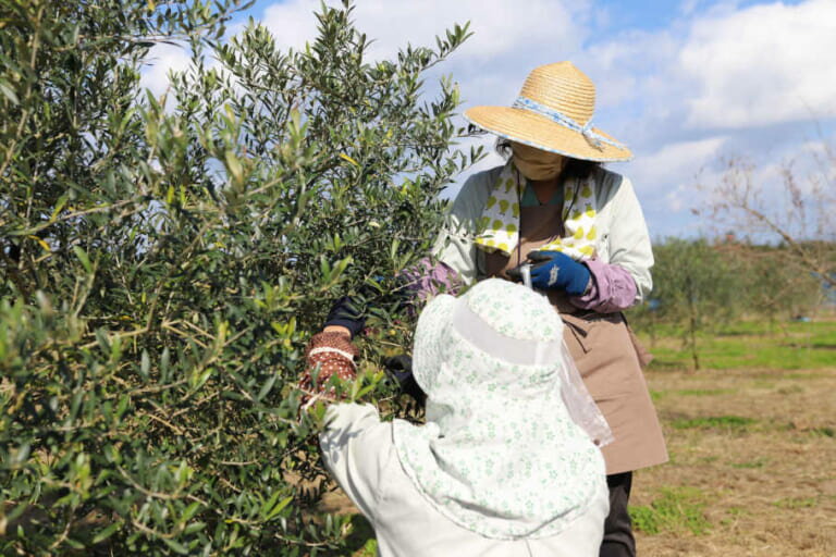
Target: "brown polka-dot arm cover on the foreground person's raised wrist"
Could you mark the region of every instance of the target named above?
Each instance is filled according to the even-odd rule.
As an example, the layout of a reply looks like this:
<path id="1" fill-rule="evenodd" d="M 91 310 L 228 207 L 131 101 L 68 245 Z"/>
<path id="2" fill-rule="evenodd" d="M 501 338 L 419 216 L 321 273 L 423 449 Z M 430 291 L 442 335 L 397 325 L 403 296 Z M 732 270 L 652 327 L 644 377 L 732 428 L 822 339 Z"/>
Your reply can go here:
<path id="1" fill-rule="evenodd" d="M 331 375 L 336 374 L 342 380 L 353 380 L 357 376 L 354 359 L 358 355 L 357 347 L 351 338 L 342 333 L 319 333 L 311 337 L 305 349 L 305 373 L 299 380 L 299 388 L 305 393 L 303 403 L 311 396 L 334 399 L 333 389 L 325 391 L 325 384 Z M 311 373 L 319 366 L 317 384 L 314 385 Z"/>

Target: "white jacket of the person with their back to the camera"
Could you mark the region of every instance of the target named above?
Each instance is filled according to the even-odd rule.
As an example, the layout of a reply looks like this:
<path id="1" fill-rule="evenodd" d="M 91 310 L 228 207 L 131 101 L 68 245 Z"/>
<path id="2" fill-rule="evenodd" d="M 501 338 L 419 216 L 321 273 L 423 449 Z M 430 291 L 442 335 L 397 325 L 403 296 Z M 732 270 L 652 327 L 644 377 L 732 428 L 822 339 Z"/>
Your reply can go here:
<path id="1" fill-rule="evenodd" d="M 586 512 L 560 535 L 503 541 L 484 537 L 441 515 L 404 472 L 392 437 L 371 405 L 337 404 L 328 409 L 320 435 L 329 471 L 371 522 L 382 557 L 595 557 L 610 509 L 606 482 Z M 543 488 L 548 488 L 544 486 Z"/>

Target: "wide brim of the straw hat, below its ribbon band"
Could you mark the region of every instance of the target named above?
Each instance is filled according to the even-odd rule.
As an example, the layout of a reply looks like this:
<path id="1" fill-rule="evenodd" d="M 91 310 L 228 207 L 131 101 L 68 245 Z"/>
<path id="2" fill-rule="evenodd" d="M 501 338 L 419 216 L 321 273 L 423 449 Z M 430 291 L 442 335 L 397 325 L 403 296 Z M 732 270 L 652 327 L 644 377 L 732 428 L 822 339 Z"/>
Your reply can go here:
<path id="1" fill-rule="evenodd" d="M 605 143 L 592 145 L 580 132 L 529 110 L 511 107 L 474 107 L 465 111 L 464 115 L 475 125 L 494 135 L 564 157 L 595 162 L 632 159 L 629 149 Z M 592 131 L 618 143 L 601 129 L 592 128 Z"/>

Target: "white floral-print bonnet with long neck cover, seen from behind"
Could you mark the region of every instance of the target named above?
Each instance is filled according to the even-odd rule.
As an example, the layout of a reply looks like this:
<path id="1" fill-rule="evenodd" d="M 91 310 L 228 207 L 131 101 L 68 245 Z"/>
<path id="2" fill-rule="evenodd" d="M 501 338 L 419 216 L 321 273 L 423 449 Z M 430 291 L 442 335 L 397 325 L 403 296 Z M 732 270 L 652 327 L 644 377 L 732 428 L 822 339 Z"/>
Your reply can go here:
<path id="1" fill-rule="evenodd" d="M 524 286 L 488 280 L 428 304 L 413 355 L 427 424 L 394 422 L 401 463 L 423 497 L 488 537 L 563 531 L 605 474 L 575 420 L 612 438 L 569 364 L 560 315 Z"/>

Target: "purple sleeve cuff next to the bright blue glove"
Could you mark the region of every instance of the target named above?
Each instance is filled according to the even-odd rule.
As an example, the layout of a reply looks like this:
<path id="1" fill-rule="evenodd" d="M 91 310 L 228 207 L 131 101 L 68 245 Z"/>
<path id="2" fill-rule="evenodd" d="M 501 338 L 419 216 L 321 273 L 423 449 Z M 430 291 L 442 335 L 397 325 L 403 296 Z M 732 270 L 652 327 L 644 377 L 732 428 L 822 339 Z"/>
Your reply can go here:
<path id="1" fill-rule="evenodd" d="M 590 288 L 583 296 L 569 298 L 578 308 L 599 313 L 613 313 L 629 308 L 636 301 L 636 281 L 623 267 L 598 259 L 583 261 L 590 273 Z"/>

